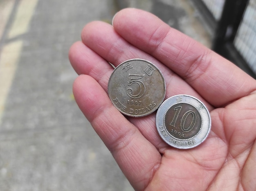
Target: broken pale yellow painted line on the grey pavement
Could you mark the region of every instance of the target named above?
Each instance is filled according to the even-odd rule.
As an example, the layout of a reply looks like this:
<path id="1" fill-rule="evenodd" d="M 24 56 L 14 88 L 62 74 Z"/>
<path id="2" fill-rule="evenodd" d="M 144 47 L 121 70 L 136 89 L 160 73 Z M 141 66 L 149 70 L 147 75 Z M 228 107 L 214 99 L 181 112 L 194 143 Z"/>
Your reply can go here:
<path id="1" fill-rule="evenodd" d="M 7 34 L 8 39 L 27 33 L 37 2 L 38 0 L 20 0 L 11 29 Z M 17 39 L 4 45 L 0 52 L 0 124 L 4 105 L 20 59 L 22 46 L 23 41 Z"/>

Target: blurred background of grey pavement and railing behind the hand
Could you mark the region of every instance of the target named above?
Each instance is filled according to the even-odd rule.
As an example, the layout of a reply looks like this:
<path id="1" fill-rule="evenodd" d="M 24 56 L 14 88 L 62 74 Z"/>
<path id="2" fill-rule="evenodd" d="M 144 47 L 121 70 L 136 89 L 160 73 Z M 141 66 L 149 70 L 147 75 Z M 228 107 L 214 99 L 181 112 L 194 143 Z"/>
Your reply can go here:
<path id="1" fill-rule="evenodd" d="M 125 7 L 256 74 L 256 0 L 0 0 L 0 191 L 131 191 L 77 107 L 68 60 L 92 20 Z"/>

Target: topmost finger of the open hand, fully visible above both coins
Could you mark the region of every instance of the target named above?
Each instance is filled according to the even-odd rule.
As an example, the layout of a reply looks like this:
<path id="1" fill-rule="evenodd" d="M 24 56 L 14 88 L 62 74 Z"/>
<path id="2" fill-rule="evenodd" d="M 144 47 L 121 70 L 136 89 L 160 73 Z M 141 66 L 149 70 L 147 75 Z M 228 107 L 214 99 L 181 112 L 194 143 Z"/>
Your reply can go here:
<path id="1" fill-rule="evenodd" d="M 115 15 L 113 26 L 121 37 L 152 54 L 216 107 L 256 89 L 252 77 L 151 13 L 124 9 Z"/>

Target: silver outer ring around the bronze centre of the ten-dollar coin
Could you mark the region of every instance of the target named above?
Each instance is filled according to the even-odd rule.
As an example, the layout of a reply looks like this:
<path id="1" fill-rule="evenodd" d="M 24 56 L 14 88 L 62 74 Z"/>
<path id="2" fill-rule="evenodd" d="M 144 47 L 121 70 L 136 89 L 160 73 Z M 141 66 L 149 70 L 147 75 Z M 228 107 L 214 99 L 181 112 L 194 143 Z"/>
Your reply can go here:
<path id="1" fill-rule="evenodd" d="M 201 116 L 202 116 L 202 125 L 201 125 L 201 130 L 200 132 L 196 135 L 196 136 L 193 136 L 192 138 L 189 138 L 188 140 L 192 140 L 192 139 L 196 139 L 196 143 L 193 144 L 193 145 L 175 145 L 173 142 L 170 142 L 167 140 L 168 137 L 172 137 L 173 140 L 176 140 L 176 141 L 180 141 L 179 139 L 177 138 L 174 138 L 173 136 L 170 136 L 168 134 L 168 132 L 166 132 L 168 134 L 168 137 L 164 138 L 164 135 L 162 134 L 162 132 L 160 131 L 160 127 L 164 127 L 164 129 L 166 130 L 166 127 L 164 125 L 164 113 L 166 112 L 167 109 L 169 109 L 169 105 L 174 105 L 174 103 L 176 103 L 176 98 L 177 97 L 191 97 L 193 98 L 195 101 L 198 101 L 200 104 L 202 104 L 204 106 L 204 109 L 206 112 L 204 112 L 203 114 L 201 113 L 203 110 L 200 110 L 198 111 Z M 187 103 L 185 101 L 180 101 L 179 103 Z M 191 103 L 189 103 L 191 104 Z M 195 105 L 191 104 L 193 107 L 196 108 Z M 196 108 L 197 109 L 197 108 Z M 206 116 L 208 119 L 209 119 L 209 122 L 207 122 L 206 120 L 203 120 L 204 116 Z M 194 148 L 194 147 L 197 147 L 198 145 L 200 145 L 202 142 L 205 141 L 205 139 L 207 138 L 207 136 L 209 135 L 209 132 L 211 131 L 211 116 L 210 116 L 210 113 L 208 111 L 208 109 L 206 108 L 206 106 L 204 105 L 204 103 L 202 103 L 202 101 L 200 101 L 199 99 L 193 97 L 193 96 L 190 96 L 190 95 L 186 95 L 186 94 L 179 94 L 179 95 L 175 95 L 175 96 L 172 96 L 168 99 L 166 99 L 162 105 L 160 105 L 160 107 L 158 108 L 157 110 L 157 114 L 156 114 L 156 127 L 157 127 L 157 132 L 159 134 L 159 136 L 162 138 L 162 140 L 164 142 L 166 142 L 168 145 L 172 146 L 172 147 L 175 147 L 177 149 L 191 149 L 191 148 Z M 207 128 L 207 129 L 206 129 Z M 188 141 L 186 140 L 186 141 Z"/>

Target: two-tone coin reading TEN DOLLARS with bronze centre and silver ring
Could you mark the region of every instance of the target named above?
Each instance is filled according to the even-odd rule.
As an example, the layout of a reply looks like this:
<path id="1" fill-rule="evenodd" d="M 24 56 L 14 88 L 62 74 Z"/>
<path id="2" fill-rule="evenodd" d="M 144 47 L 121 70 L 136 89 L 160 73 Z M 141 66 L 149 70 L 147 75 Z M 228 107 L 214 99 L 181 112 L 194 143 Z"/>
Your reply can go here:
<path id="1" fill-rule="evenodd" d="M 157 131 L 172 147 L 190 149 L 200 145 L 211 130 L 211 117 L 205 105 L 189 95 L 166 99 L 157 110 Z"/>

